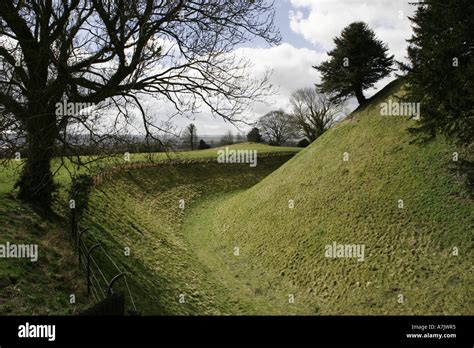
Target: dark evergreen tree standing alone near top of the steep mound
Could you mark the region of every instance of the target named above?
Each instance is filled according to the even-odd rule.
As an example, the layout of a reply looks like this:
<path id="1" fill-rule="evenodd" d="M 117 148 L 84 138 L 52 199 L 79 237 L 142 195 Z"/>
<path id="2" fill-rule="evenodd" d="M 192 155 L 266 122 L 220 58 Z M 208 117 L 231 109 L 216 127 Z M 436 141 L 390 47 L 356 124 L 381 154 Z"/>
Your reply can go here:
<path id="1" fill-rule="evenodd" d="M 334 43 L 330 59 L 314 67 L 322 75 L 318 87 L 321 92 L 334 93 L 334 100 L 355 95 L 363 104 L 364 89 L 393 71 L 393 55 L 387 56 L 387 45 L 363 22 L 344 28 Z"/>

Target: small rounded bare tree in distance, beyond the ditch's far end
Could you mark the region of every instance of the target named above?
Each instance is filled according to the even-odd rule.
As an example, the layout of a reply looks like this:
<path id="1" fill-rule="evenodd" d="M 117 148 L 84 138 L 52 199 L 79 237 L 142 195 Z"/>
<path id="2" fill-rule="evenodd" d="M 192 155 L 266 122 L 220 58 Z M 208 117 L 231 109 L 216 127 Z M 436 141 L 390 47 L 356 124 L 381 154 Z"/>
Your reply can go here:
<path id="1" fill-rule="evenodd" d="M 260 117 L 258 126 L 270 145 L 282 145 L 296 134 L 292 115 L 283 110 L 271 111 Z"/>

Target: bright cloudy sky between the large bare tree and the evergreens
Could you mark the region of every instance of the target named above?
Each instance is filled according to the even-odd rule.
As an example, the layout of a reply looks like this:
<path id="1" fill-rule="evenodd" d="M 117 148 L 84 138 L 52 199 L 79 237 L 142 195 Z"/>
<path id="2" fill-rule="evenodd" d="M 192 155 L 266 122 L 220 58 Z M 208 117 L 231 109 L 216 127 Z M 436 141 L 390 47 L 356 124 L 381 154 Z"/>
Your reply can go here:
<path id="1" fill-rule="evenodd" d="M 275 0 L 276 25 L 282 35 L 282 43 L 269 47 L 259 40 L 239 48 L 253 64 L 253 72 L 258 76 L 266 68 L 273 71 L 271 83 L 278 88 L 278 94 L 270 97 L 267 105 L 255 103 L 248 116 L 257 120 L 266 112 L 283 108 L 289 111 L 289 96 L 303 87 L 319 82 L 318 72 L 312 68 L 327 59 L 326 52 L 334 47 L 333 38 L 342 29 L 355 21 L 364 21 L 379 39 L 389 46 L 390 53 L 398 61 L 405 61 L 406 40 L 411 36 L 408 16 L 414 6 L 402 0 Z M 366 91 L 370 97 L 378 89 L 393 80 L 393 75 L 377 83 L 374 89 Z M 354 101 L 348 103 L 350 110 Z M 174 119 L 179 128 L 190 120 Z M 220 119 L 199 115 L 192 121 L 199 135 L 220 135 L 228 130 L 237 130 Z M 243 127 L 242 131 L 248 128 Z"/>

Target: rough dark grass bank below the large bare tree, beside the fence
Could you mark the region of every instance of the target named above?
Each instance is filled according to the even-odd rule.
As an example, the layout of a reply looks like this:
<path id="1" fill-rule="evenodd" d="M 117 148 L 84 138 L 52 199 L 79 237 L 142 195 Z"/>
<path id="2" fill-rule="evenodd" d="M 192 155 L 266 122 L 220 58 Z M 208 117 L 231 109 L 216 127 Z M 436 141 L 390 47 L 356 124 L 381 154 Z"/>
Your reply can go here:
<path id="1" fill-rule="evenodd" d="M 59 221 L 0 196 L 0 243 L 37 244 L 38 260 L 0 259 L 0 314 L 75 314 L 91 304 Z M 70 303 L 74 295 L 76 303 Z"/>

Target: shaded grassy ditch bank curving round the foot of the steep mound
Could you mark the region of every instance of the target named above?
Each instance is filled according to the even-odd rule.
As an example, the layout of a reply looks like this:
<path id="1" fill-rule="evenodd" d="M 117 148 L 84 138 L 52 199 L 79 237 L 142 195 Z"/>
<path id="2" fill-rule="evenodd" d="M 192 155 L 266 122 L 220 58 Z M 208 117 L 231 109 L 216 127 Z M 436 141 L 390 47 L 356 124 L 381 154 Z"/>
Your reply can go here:
<path id="1" fill-rule="evenodd" d="M 251 313 L 254 301 L 236 300 L 231 289 L 199 261 L 181 232 L 182 221 L 201 201 L 251 187 L 290 156 L 259 158 L 255 168 L 186 163 L 119 173 L 93 191 L 83 225 L 129 275 L 141 313 Z M 130 256 L 124 254 L 126 247 Z M 104 273 L 111 279 L 114 272 L 107 269 Z M 271 306 L 264 306 L 270 310 Z"/>

